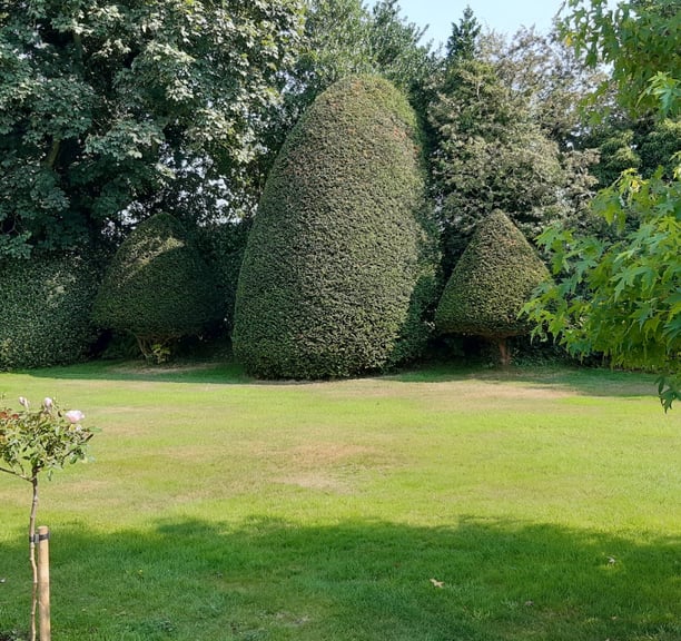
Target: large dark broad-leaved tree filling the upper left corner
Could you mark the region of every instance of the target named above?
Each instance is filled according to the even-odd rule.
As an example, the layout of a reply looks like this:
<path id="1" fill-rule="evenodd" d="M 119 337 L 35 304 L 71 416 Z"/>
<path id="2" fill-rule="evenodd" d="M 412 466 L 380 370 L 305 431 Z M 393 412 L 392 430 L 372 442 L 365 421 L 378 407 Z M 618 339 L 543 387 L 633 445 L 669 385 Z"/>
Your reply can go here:
<path id="1" fill-rule="evenodd" d="M 188 174 L 248 190 L 300 26 L 297 0 L 0 2 L 0 255 L 117 234 Z"/>

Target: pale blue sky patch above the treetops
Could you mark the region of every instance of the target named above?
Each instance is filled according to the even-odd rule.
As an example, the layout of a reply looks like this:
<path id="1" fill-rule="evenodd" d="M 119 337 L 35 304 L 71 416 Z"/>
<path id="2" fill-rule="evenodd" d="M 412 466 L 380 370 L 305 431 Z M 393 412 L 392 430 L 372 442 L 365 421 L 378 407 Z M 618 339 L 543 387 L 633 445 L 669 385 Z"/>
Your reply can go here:
<path id="1" fill-rule="evenodd" d="M 547 31 L 563 0 L 399 0 L 402 14 L 420 27 L 430 24 L 424 41 L 446 42 L 452 22 L 458 22 L 466 4 L 490 29 L 514 33 L 521 26 L 535 24 Z M 373 6 L 374 0 L 368 1 Z"/>

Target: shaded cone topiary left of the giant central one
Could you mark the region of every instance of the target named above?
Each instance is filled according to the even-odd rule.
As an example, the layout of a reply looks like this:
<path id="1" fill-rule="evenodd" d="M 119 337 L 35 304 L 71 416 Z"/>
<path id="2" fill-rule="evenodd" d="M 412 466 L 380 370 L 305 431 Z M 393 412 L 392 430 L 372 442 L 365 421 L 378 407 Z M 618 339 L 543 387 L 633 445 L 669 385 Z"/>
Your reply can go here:
<path id="1" fill-rule="evenodd" d="M 99 287 L 97 325 L 130 332 L 142 353 L 166 348 L 221 318 L 217 287 L 206 263 L 168 214 L 144 221 L 121 244 Z"/>

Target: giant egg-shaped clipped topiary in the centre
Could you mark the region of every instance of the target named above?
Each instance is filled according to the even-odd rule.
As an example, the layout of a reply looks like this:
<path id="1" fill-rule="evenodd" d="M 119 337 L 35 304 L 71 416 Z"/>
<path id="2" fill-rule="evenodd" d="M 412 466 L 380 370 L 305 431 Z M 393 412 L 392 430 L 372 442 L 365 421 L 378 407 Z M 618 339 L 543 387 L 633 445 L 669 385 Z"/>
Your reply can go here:
<path id="1" fill-rule="evenodd" d="M 235 355 L 251 374 L 325 378 L 416 356 L 437 253 L 414 111 L 389 82 L 322 93 L 286 140 L 250 233 Z"/>

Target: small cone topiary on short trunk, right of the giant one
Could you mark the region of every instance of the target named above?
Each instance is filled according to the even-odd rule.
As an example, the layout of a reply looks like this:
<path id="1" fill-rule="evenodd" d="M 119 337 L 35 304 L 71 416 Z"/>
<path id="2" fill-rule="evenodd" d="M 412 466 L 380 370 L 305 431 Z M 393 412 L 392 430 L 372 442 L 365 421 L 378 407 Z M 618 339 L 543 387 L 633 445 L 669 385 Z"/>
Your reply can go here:
<path id="1" fill-rule="evenodd" d="M 527 333 L 519 319 L 549 272 L 523 234 L 499 209 L 484 218 L 456 264 L 435 313 L 441 334 L 472 334 L 497 343 L 510 363 L 506 338 Z"/>

